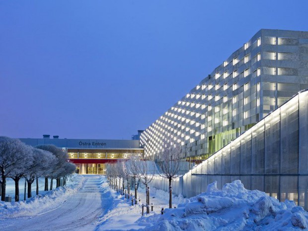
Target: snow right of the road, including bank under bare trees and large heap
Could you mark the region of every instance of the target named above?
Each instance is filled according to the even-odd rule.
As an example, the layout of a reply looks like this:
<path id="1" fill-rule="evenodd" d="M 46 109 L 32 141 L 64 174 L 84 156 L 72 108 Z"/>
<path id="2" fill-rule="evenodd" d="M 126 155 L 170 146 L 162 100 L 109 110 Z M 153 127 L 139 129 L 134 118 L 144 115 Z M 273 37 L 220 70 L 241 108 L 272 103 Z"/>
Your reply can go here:
<path id="1" fill-rule="evenodd" d="M 280 203 L 264 192 L 250 191 L 236 180 L 217 189 L 216 182 L 207 192 L 190 199 L 174 198 L 176 209 L 166 207 L 168 194 L 152 190 L 154 213 L 141 217 L 141 205 L 131 206 L 102 184 L 109 194 L 108 211 L 98 222 L 99 231 L 293 231 L 308 230 L 308 213 L 292 201 Z M 144 200 L 144 196 L 142 199 Z"/>

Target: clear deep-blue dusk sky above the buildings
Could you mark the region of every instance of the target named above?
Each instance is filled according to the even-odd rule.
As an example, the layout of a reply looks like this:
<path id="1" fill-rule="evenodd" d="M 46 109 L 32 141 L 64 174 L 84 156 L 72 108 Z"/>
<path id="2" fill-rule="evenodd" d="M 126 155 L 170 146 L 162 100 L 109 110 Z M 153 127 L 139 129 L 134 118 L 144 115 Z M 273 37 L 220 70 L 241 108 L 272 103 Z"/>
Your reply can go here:
<path id="1" fill-rule="evenodd" d="M 308 0 L 0 0 L 0 136 L 131 139 Z"/>

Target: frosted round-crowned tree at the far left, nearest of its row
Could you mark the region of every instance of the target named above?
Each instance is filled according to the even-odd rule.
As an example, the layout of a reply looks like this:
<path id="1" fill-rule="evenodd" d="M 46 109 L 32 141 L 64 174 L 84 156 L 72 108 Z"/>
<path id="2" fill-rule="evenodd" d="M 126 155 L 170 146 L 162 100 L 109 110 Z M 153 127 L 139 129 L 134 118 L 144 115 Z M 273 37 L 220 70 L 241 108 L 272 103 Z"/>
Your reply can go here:
<path id="1" fill-rule="evenodd" d="M 31 156 L 30 148 L 20 140 L 0 137 L 1 201 L 5 199 L 6 177 L 12 174 L 17 176 L 19 174 L 17 169 L 23 168 L 24 165 L 31 162 Z M 15 170 L 15 172 L 13 172 L 13 170 Z M 22 174 L 24 174 L 24 172 Z M 15 181 L 15 185 L 17 186 L 15 189 L 18 191 L 17 197 L 19 195 L 18 178 L 16 178 Z M 19 198 L 15 199 L 18 200 Z"/>

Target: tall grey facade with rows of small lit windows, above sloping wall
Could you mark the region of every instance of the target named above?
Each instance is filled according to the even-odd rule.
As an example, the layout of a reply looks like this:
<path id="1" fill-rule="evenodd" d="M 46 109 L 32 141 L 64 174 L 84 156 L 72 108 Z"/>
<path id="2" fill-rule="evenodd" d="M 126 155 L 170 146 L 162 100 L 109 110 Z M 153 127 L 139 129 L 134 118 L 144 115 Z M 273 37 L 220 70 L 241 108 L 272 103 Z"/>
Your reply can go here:
<path id="1" fill-rule="evenodd" d="M 162 143 L 189 145 L 187 160 L 218 152 L 308 88 L 308 32 L 258 31 L 141 135 L 146 155 Z"/>

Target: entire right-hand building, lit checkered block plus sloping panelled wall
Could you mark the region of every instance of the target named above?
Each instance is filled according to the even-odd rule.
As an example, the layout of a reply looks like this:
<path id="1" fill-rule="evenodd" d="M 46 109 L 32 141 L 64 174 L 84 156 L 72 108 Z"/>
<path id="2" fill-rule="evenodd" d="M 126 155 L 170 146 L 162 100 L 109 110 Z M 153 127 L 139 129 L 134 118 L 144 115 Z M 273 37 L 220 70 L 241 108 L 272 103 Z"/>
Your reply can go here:
<path id="1" fill-rule="evenodd" d="M 195 196 L 240 179 L 308 209 L 308 32 L 258 31 L 141 135 L 145 155 L 163 140 L 202 162 L 173 184 Z M 163 179 L 153 186 L 167 189 Z"/>

